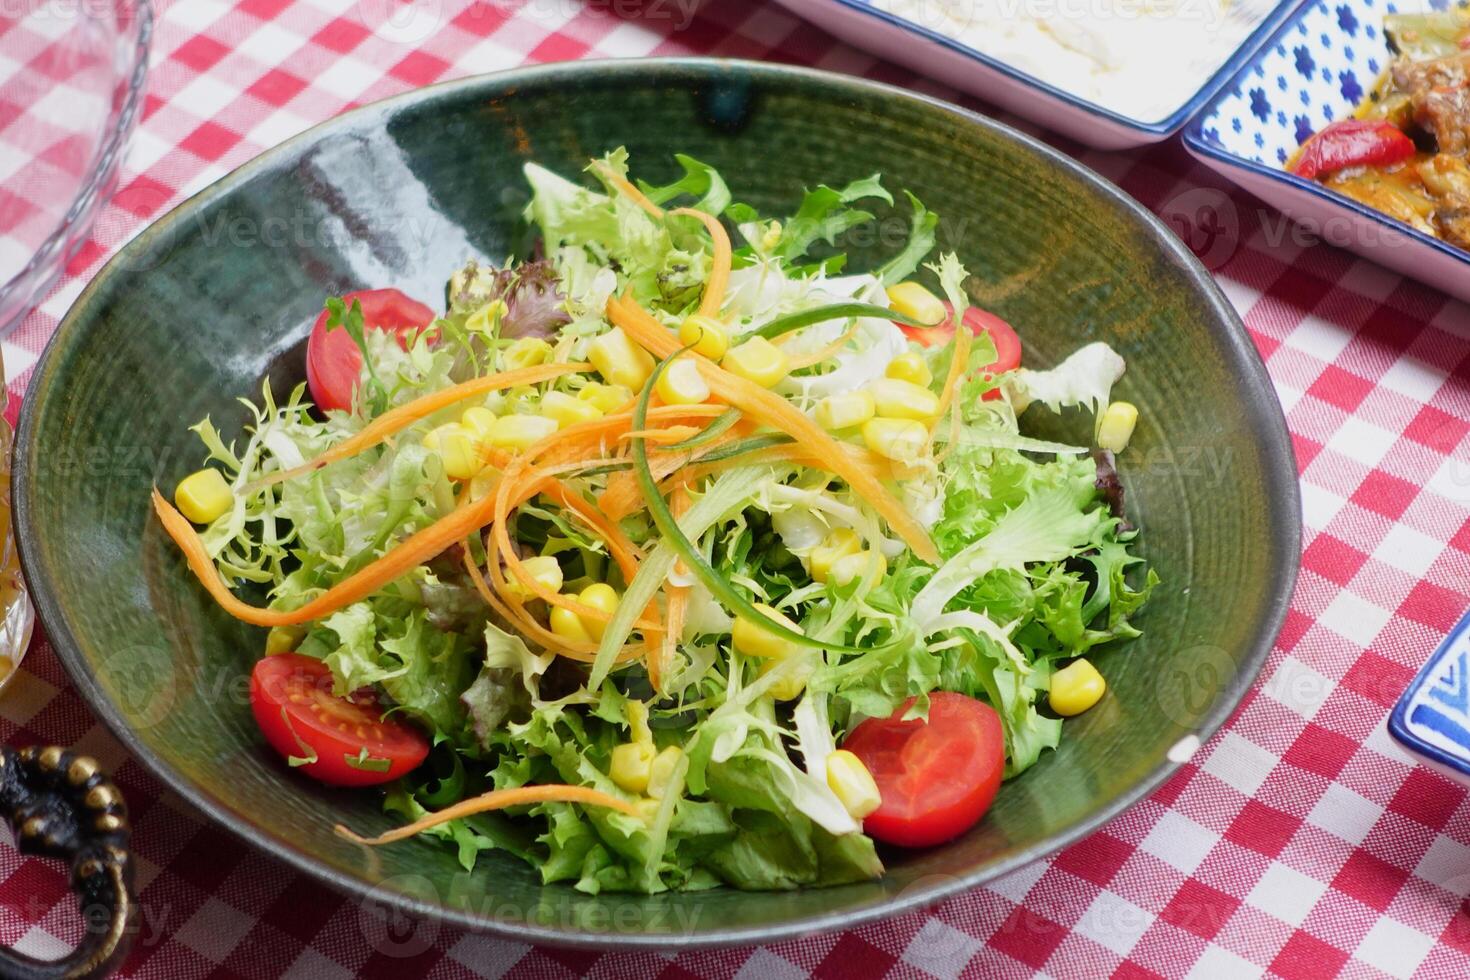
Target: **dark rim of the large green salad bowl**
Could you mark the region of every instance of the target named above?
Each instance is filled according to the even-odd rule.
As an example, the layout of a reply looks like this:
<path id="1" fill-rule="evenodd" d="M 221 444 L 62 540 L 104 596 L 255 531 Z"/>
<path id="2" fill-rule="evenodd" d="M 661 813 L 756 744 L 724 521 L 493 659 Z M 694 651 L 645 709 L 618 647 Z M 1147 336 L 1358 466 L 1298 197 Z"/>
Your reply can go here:
<path id="1" fill-rule="evenodd" d="M 1248 414 L 1254 423 L 1252 428 L 1260 439 L 1263 455 L 1267 463 L 1264 467 L 1264 480 L 1267 483 L 1266 508 L 1267 516 L 1270 517 L 1270 525 L 1276 527 L 1279 533 L 1272 541 L 1272 558 L 1274 566 L 1272 577 L 1273 598 L 1266 608 L 1266 614 L 1257 623 L 1251 648 L 1241 660 L 1241 670 L 1238 670 L 1230 677 L 1229 683 L 1222 688 L 1220 693 L 1216 696 L 1214 705 L 1205 714 L 1194 736 L 1186 736 L 1183 743 L 1192 743 L 1192 746 L 1185 745 L 1185 748 L 1189 749 L 1188 752 L 1170 752 L 1169 758 L 1163 760 L 1132 788 L 1098 807 L 1067 830 L 1057 833 L 1030 848 L 1025 848 L 1004 861 L 985 868 L 973 870 L 967 874 L 931 876 L 925 880 L 923 887 L 908 887 L 901 893 L 886 895 L 866 905 L 854 905 L 838 911 L 792 918 L 775 926 L 716 926 L 707 930 L 691 930 L 684 933 L 620 933 L 610 929 L 573 930 L 523 921 L 512 923 L 492 918 L 487 914 L 448 908 L 445 905 L 428 902 L 400 892 L 385 892 L 375 883 L 332 868 L 309 852 L 295 849 L 290 845 L 290 842 L 281 842 L 278 846 L 263 849 L 268 849 L 273 858 L 285 862 L 294 871 L 309 879 L 322 882 L 359 902 L 372 901 L 394 905 L 406 912 L 438 920 L 470 932 L 490 933 L 519 942 L 547 943 L 564 948 L 703 949 L 800 939 L 814 933 L 851 929 L 875 920 L 889 918 L 907 911 L 933 905 L 935 902 L 960 892 L 966 892 L 978 884 L 982 884 L 983 882 L 1016 871 L 1020 867 L 1032 864 L 1085 836 L 1089 836 L 1113 817 L 1119 815 L 1144 796 L 1154 792 L 1166 779 L 1183 765 L 1198 745 L 1208 739 L 1210 735 L 1213 735 L 1235 711 L 1247 689 L 1251 683 L 1254 683 L 1261 666 L 1266 663 L 1266 658 L 1270 655 L 1276 636 L 1285 623 L 1292 589 L 1297 580 L 1297 569 L 1301 552 L 1299 488 L 1297 483 L 1297 464 L 1291 436 L 1286 428 L 1286 419 L 1282 413 L 1280 401 L 1276 397 L 1274 388 L 1266 373 L 1266 366 L 1261 361 L 1260 353 L 1251 342 L 1239 316 L 1226 301 L 1225 294 L 1214 284 L 1210 273 L 1183 245 L 1183 242 L 1180 242 L 1158 217 L 1101 175 L 1095 173 L 1082 163 L 1063 156 L 1058 150 L 1054 150 L 1041 141 L 1017 132 L 1016 129 L 980 113 L 945 103 L 939 98 L 864 78 L 781 63 L 713 57 L 666 57 L 637 60 L 591 59 L 582 62 L 560 62 L 491 72 L 485 75 L 472 75 L 401 93 L 398 96 L 353 109 L 303 131 L 301 134 L 262 153 L 253 160 L 248 160 L 156 219 L 144 232 L 121 248 L 87 285 L 81 295 L 78 295 L 35 366 L 32 388 L 35 388 L 37 392 L 47 391 L 47 378 L 54 370 L 54 351 L 59 350 L 62 341 L 66 341 L 75 331 L 79 329 L 78 323 L 81 322 L 82 314 L 93 297 L 113 275 L 118 273 L 119 269 L 126 264 L 131 257 L 131 251 L 137 247 L 134 242 L 150 239 L 153 235 L 162 232 L 168 225 L 182 220 L 198 207 L 229 194 L 237 187 L 248 181 L 257 170 L 268 167 L 281 159 L 288 159 L 298 148 L 306 147 L 334 129 L 351 129 L 354 125 L 360 125 L 376 115 L 407 106 L 429 103 L 451 88 L 466 88 L 473 91 L 481 87 L 494 87 L 498 90 L 517 84 L 545 84 L 548 81 L 556 82 L 560 79 L 576 79 L 587 73 L 607 72 L 620 75 L 642 72 L 692 72 L 703 73 L 706 76 L 722 72 L 741 72 L 747 76 L 772 82 L 801 79 L 806 82 L 835 87 L 839 91 L 845 90 L 854 94 L 861 93 L 867 96 L 881 96 L 900 106 L 903 103 L 923 104 L 926 107 L 951 113 L 957 118 L 957 120 L 967 125 L 979 125 L 1003 140 L 1010 140 L 1020 144 L 1026 150 L 1036 153 L 1053 166 L 1067 170 L 1075 179 L 1091 185 L 1102 197 L 1111 198 L 1125 212 L 1125 215 L 1130 216 L 1144 231 L 1150 232 L 1150 237 L 1158 247 L 1161 257 L 1173 260 L 1176 267 L 1179 267 L 1180 272 L 1183 272 L 1192 285 L 1200 291 L 1201 298 L 1208 304 L 1214 314 L 1211 329 L 1223 334 L 1222 341 L 1229 350 L 1233 351 L 1235 359 L 1241 364 L 1242 381 L 1245 382 L 1242 385 L 1245 389 L 1242 401 L 1248 406 Z M 47 586 L 49 576 L 46 574 L 46 566 L 43 563 L 43 552 L 40 547 L 41 533 L 32 520 L 32 495 L 35 494 L 34 480 L 37 460 L 43 453 L 41 447 L 35 444 L 38 438 L 37 406 L 43 403 L 44 394 L 38 398 L 28 397 L 22 404 L 21 423 L 15 442 L 12 505 L 15 508 L 15 527 L 21 557 L 24 567 L 34 570 L 35 577 L 31 582 L 31 591 L 37 599 L 37 611 L 46 633 L 50 638 L 51 646 L 56 651 L 57 658 L 62 661 L 62 666 L 66 669 L 66 673 L 71 676 L 72 683 L 87 699 L 87 704 L 134 758 L 137 758 L 163 785 L 171 788 L 191 805 L 197 807 L 210 820 L 222 827 L 226 827 L 229 832 L 238 835 L 253 846 L 263 846 L 260 835 L 254 832 L 250 820 L 244 814 L 238 813 L 238 810 L 231 807 L 225 799 L 216 798 L 215 795 L 206 792 L 201 786 L 197 786 L 191 780 L 185 779 L 134 735 L 128 720 L 91 676 L 87 669 L 87 661 L 81 657 L 79 644 L 71 632 L 66 619 L 62 616 L 62 610 L 54 598 L 53 589 Z"/>

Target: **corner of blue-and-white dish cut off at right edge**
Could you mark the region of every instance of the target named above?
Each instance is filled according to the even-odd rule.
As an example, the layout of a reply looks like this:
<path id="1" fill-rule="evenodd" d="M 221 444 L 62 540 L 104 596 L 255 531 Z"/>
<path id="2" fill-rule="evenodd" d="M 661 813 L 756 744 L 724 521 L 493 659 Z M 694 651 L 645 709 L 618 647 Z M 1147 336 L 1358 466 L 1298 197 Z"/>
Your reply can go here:
<path id="1" fill-rule="evenodd" d="M 1470 783 L 1470 613 L 1408 685 L 1388 730 L 1424 765 Z"/>

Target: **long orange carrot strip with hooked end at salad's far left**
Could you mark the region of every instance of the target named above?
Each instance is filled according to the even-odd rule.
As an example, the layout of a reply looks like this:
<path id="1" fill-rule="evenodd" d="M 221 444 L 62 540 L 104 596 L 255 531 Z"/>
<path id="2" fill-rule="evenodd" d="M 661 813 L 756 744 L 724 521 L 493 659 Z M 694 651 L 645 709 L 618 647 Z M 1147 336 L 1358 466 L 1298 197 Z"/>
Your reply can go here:
<path id="1" fill-rule="evenodd" d="M 366 598 L 416 566 L 423 564 L 450 545 L 469 536 L 491 514 L 494 500 L 487 497 L 475 504 L 456 507 L 428 527 L 410 535 L 388 554 L 363 566 L 348 577 L 326 589 L 315 599 L 294 610 L 265 610 L 235 598 L 215 569 L 198 532 L 173 508 L 163 494 L 153 488 L 153 510 L 173 544 L 179 547 L 190 570 L 219 605 L 238 620 L 253 626 L 295 626 L 331 616 L 340 608 Z"/>

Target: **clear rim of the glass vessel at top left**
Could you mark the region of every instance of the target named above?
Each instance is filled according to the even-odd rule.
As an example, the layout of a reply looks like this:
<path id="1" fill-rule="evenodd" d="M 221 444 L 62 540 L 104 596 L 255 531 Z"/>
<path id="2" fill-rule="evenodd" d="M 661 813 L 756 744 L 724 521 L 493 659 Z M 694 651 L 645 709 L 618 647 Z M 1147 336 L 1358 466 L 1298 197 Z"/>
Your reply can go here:
<path id="1" fill-rule="evenodd" d="M 132 41 L 132 71 L 126 78 L 119 78 L 118 85 L 126 84 L 126 94 L 122 107 L 113 118 L 113 125 L 103 138 L 96 156 L 91 173 L 72 197 L 66 213 L 56 222 L 56 228 L 46 241 L 35 250 L 26 263 L 6 282 L 0 282 L 0 310 L 16 303 L 13 316 L 0 320 L 0 335 L 9 334 L 21 326 L 29 316 L 35 304 L 44 298 L 47 289 L 56 282 L 62 267 L 66 264 L 69 242 L 85 234 L 90 222 L 96 217 L 97 209 L 104 203 L 104 190 L 118 176 L 125 150 L 132 137 L 132 129 L 138 122 L 143 106 L 143 93 L 148 84 L 148 48 L 153 44 L 153 0 L 125 0 L 132 4 L 135 32 Z M 54 267 L 47 267 L 54 263 Z"/>

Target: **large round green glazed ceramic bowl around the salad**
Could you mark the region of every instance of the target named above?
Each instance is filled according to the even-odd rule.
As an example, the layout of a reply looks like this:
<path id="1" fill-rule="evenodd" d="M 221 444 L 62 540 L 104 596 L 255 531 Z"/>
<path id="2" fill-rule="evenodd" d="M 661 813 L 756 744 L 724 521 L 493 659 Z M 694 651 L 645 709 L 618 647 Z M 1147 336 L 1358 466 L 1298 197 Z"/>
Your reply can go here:
<path id="1" fill-rule="evenodd" d="M 1129 508 L 1163 588 L 1142 641 L 1108 652 L 1107 699 L 1061 749 L 1007 783 L 989 815 L 931 851 L 885 855 L 881 882 L 654 898 L 542 887 L 490 857 L 466 874 L 429 842 L 369 851 L 332 835 L 387 827 L 370 793 L 334 792 L 265 746 L 244 698 L 259 630 L 216 610 L 150 519 L 226 436 L 240 397 L 303 378 L 322 298 L 398 285 L 442 295 L 467 256 L 506 254 L 520 165 L 575 173 L 626 144 L 662 178 L 685 151 L 769 213 L 804 185 L 883 172 L 944 216 L 941 247 L 975 301 L 1016 325 L 1030 364 L 1104 339 L 1129 363 L 1142 422 L 1123 457 Z M 903 220 L 854 235 L 854 267 Z M 853 926 L 1014 870 L 1138 801 L 1230 713 L 1286 610 L 1298 498 L 1261 363 L 1204 269 L 1097 175 L 988 119 L 853 78 L 716 60 L 573 63 L 451 82 L 368 106 L 263 154 L 123 248 L 37 367 L 15 508 L 41 619 L 78 689 L 182 796 L 350 893 L 522 940 L 750 943 Z M 366 920 L 365 920 L 366 921 Z"/>

